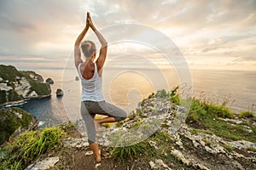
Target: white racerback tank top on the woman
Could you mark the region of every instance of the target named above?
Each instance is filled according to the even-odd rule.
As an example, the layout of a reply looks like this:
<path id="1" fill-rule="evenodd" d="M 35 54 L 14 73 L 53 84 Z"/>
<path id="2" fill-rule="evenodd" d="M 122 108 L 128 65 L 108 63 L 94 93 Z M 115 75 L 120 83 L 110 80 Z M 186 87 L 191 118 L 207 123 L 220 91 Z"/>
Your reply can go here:
<path id="1" fill-rule="evenodd" d="M 79 77 L 82 83 L 82 101 L 102 101 L 104 96 L 102 94 L 102 77 L 99 76 L 97 65 L 95 63 L 95 71 L 93 77 L 84 79 L 80 71 L 81 63 L 79 64 Z"/>

